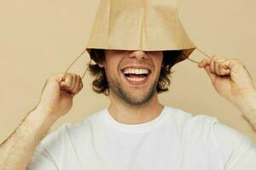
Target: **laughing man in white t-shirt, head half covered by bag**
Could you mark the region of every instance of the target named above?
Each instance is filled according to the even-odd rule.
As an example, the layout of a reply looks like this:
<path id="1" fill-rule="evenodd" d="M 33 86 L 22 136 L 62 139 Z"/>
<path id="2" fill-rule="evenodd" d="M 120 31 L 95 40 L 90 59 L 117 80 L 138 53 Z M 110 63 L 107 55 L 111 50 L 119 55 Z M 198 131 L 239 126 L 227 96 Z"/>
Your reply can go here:
<path id="1" fill-rule="evenodd" d="M 49 77 L 37 108 L 1 145 L 1 169 L 255 169 L 256 148 L 247 137 L 158 101 L 181 53 L 91 48 L 94 89 L 109 95 L 108 109 L 63 125 L 39 144 L 83 88 L 75 74 Z M 215 56 L 198 66 L 255 129 L 256 89 L 244 65 Z"/>

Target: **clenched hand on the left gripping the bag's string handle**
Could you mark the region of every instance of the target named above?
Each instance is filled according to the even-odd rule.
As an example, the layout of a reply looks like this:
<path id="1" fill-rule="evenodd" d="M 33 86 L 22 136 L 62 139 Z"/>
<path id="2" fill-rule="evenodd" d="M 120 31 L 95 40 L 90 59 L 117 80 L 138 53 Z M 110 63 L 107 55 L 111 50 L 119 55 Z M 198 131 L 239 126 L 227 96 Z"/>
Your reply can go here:
<path id="1" fill-rule="evenodd" d="M 61 74 L 49 77 L 37 110 L 56 118 L 63 116 L 70 111 L 73 97 L 79 94 L 82 88 L 83 82 L 79 75 L 67 74 L 65 76 Z"/>

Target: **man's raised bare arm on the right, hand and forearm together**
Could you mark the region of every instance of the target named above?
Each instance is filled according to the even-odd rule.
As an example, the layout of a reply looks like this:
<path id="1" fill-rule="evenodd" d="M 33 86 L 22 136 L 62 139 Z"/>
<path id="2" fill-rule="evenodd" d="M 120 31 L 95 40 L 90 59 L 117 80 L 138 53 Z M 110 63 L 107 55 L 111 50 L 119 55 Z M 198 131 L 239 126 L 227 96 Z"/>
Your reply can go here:
<path id="1" fill-rule="evenodd" d="M 198 66 L 207 71 L 218 94 L 235 105 L 256 131 L 256 89 L 241 61 L 214 56 Z"/>

